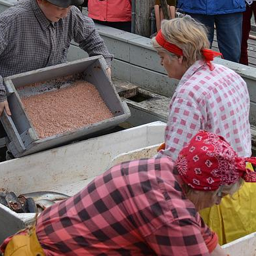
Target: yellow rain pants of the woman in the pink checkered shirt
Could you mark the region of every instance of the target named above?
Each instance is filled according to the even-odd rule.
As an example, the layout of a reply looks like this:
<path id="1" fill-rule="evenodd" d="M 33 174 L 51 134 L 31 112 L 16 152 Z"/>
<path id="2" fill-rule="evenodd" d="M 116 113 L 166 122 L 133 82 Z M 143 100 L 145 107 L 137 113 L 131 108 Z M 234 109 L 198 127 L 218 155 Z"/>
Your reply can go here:
<path id="1" fill-rule="evenodd" d="M 251 163 L 247 168 L 252 169 Z M 223 245 L 256 231 L 256 183 L 244 185 L 232 198 L 225 196 L 221 204 L 203 209 L 203 221 L 219 236 Z"/>

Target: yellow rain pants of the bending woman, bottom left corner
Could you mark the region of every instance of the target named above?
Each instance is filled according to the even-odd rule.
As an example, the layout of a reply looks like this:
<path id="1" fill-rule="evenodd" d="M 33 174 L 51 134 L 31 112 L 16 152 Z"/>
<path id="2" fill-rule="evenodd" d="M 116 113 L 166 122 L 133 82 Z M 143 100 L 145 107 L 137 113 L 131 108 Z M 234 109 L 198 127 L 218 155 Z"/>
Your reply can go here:
<path id="1" fill-rule="evenodd" d="M 45 256 L 35 234 L 35 226 L 26 234 L 16 234 L 5 248 L 4 256 Z"/>

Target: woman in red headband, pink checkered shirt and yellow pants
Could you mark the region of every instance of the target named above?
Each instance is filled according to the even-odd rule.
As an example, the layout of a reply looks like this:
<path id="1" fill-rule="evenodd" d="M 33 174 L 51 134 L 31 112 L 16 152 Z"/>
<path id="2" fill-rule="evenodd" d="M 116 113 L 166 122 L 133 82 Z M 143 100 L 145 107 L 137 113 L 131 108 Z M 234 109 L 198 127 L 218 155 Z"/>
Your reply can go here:
<path id="1" fill-rule="evenodd" d="M 205 27 L 188 15 L 168 20 L 152 43 L 168 76 L 180 80 L 169 105 L 165 144 L 159 154 L 177 160 L 182 147 L 205 129 L 223 136 L 239 156 L 251 156 L 247 85 L 233 70 L 211 62 L 221 54 L 209 50 Z M 219 207 L 203 211 L 221 244 L 256 231 L 256 205 L 250 200 L 255 193 L 254 184 L 246 185 L 238 195 L 245 200 L 226 198 Z"/>

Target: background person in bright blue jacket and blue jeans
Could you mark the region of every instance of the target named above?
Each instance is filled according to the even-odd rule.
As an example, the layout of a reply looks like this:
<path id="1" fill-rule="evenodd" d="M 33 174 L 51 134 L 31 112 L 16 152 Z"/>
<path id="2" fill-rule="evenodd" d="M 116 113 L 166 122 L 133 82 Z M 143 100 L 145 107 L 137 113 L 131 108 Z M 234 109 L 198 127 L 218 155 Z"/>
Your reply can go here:
<path id="1" fill-rule="evenodd" d="M 213 43 L 214 24 L 223 58 L 239 62 L 242 41 L 242 12 L 244 0 L 179 0 L 177 8 L 203 23 Z"/>

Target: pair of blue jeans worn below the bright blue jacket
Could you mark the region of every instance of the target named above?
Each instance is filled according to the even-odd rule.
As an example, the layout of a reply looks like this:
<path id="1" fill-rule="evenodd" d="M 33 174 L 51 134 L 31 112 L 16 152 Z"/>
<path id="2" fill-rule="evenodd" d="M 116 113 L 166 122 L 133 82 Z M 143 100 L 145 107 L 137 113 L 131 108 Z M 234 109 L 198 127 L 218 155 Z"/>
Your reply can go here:
<path id="1" fill-rule="evenodd" d="M 223 58 L 239 62 L 242 41 L 242 12 L 218 15 L 188 14 L 207 27 L 211 45 L 215 24 L 219 51 L 223 54 Z"/>

